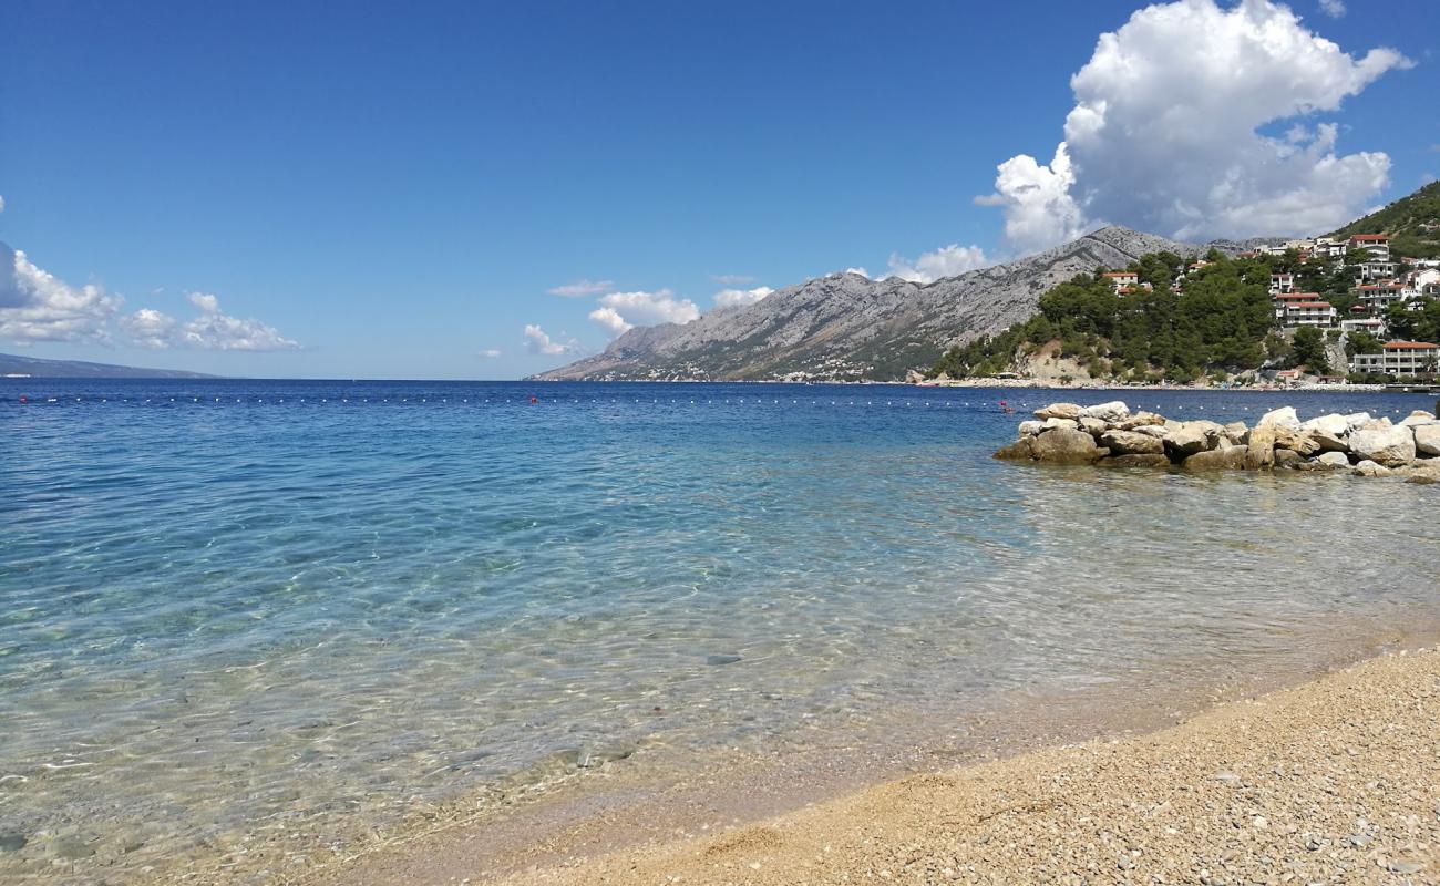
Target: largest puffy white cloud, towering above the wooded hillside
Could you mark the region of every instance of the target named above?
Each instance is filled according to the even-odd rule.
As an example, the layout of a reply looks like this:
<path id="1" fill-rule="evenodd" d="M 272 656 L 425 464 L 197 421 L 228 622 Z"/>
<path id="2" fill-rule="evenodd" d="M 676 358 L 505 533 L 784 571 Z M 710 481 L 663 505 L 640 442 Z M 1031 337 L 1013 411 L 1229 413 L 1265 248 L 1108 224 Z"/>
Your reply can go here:
<path id="1" fill-rule="evenodd" d="M 1385 48 L 1351 56 L 1270 0 L 1156 3 L 1102 35 L 1071 78 L 1051 161 L 1007 160 L 978 202 L 1004 209 L 1017 251 L 1102 220 L 1181 239 L 1333 228 L 1387 184 L 1390 157 L 1338 154 L 1329 122 L 1261 130 L 1336 111 L 1410 65 Z"/>

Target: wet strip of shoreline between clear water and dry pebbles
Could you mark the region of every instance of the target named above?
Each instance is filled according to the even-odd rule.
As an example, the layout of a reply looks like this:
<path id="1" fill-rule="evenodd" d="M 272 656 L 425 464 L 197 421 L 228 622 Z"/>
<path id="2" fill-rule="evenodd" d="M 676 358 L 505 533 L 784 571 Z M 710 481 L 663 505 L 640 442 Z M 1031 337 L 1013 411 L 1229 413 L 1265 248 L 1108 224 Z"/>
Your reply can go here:
<path id="1" fill-rule="evenodd" d="M 1354 668 L 1356 660 L 1362 663 L 1358 667 L 1367 667 L 1369 661 L 1384 660 L 1372 655 L 1384 657 L 1387 650 L 1434 638 L 1433 625 L 1414 634 L 1372 625 L 1365 643 L 1345 644 L 1344 648 L 1335 647 L 1329 654 L 1319 655 L 1312 650 L 1305 666 L 1290 663 L 1295 670 L 1284 671 L 1283 676 L 1272 673 L 1269 679 L 1254 676 L 1253 680 L 1240 677 L 1220 687 L 1162 684 L 1149 692 L 1138 692 L 1133 686 L 1116 686 L 1099 694 L 1076 693 L 1050 699 L 1035 696 L 1012 707 L 1008 715 L 996 715 L 999 719 L 1009 716 L 1022 720 L 1014 725 L 1031 729 L 1028 735 L 1012 732 L 1004 740 L 976 735 L 978 743 L 963 752 L 913 748 L 914 753 L 904 764 L 891 761 L 888 769 L 877 768 L 858 777 L 851 772 L 848 779 L 835 778 L 835 768 L 854 768 L 863 756 L 806 761 L 769 771 L 717 765 L 726 772 L 721 779 L 710 772 L 707 784 L 701 777 L 688 784 L 661 788 L 648 785 L 651 789 L 642 787 L 642 779 L 612 777 L 613 784 L 589 788 L 576 785 L 575 792 L 539 798 L 534 805 L 516 808 L 498 821 L 438 823 L 428 833 L 377 844 L 372 850 L 311 869 L 307 874 L 285 882 L 311 886 L 438 885 L 465 879 L 472 883 L 517 886 L 552 882 L 667 882 L 658 869 L 651 872 L 652 876 L 629 879 L 622 873 L 639 862 L 674 866 L 677 854 L 685 859 L 708 857 L 707 847 L 714 841 L 727 843 L 755 828 L 786 831 L 816 808 L 845 810 L 864 805 L 874 795 L 894 791 L 897 785 L 914 779 L 949 779 L 956 774 L 965 775 L 991 766 L 1027 766 L 1027 761 L 1032 758 L 1045 758 L 1076 746 L 1109 746 L 1116 740 L 1145 743 L 1175 729 L 1187 729 L 1189 723 L 1218 712 L 1244 709 L 1250 703 L 1247 699 L 1254 696 L 1313 692 L 1312 687 L 1332 680 L 1336 673 L 1348 673 L 1336 668 Z M 1359 637 L 1354 640 L 1358 641 Z M 1440 653 L 1433 655 L 1440 660 Z M 1434 670 L 1440 673 L 1440 661 Z M 1296 680 L 1300 683 L 1296 684 Z M 1097 707 L 1107 712 L 1104 722 L 1096 720 Z M 1037 716 L 1037 712 L 1044 713 Z M 1440 740 L 1440 735 L 1436 739 Z M 827 777 L 828 787 L 819 784 Z M 806 779 L 818 781 L 811 784 Z M 887 830 L 888 827 L 886 824 Z M 762 864 L 770 862 L 762 860 Z M 700 870 L 688 862 L 681 863 L 678 870 L 684 872 L 684 882 L 690 883 L 732 882 L 740 873 L 744 876 L 733 882 L 840 882 L 838 874 L 808 880 L 798 870 L 766 879 L 747 867 L 726 869 L 726 876 L 721 876 L 720 869 Z M 851 879 L 864 879 L 858 867 L 847 867 L 845 872 L 852 874 Z"/>

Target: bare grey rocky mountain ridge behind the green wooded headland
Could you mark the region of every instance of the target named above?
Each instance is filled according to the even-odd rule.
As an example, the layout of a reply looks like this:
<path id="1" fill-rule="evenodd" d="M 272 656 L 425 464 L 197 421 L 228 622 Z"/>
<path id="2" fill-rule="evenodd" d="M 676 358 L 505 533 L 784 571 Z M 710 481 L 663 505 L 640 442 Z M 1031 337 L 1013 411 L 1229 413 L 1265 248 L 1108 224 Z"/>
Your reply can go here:
<path id="1" fill-rule="evenodd" d="M 1214 243 L 1240 252 L 1243 243 Z M 896 380 L 946 347 L 998 333 L 1035 313 L 1040 294 L 1097 267 L 1123 268 L 1146 252 L 1198 255 L 1128 228 L 932 284 L 834 274 L 685 324 L 636 327 L 603 353 L 534 376 L 541 380 L 834 379 Z"/>

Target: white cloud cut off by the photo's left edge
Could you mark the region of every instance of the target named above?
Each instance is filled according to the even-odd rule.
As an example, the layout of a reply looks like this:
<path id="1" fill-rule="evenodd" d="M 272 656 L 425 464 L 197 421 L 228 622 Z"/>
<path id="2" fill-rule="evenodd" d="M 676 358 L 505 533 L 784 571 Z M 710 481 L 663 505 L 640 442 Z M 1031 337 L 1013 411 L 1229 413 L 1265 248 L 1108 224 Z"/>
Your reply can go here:
<path id="1" fill-rule="evenodd" d="M 0 339 L 108 341 L 109 320 L 124 304 L 95 284 L 72 287 L 0 243 Z"/>

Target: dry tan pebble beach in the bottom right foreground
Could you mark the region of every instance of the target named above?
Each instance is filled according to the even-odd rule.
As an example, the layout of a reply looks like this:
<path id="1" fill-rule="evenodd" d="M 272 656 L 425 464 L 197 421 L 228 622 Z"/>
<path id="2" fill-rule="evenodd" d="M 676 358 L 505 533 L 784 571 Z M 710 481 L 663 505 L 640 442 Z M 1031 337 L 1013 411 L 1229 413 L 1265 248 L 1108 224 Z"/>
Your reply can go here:
<path id="1" fill-rule="evenodd" d="M 441 841 L 323 879 L 1440 883 L 1437 710 L 1440 651 L 1398 653 L 1162 732 L 912 777 L 719 836 L 500 880 L 467 879 Z"/>

